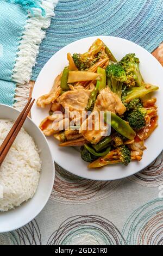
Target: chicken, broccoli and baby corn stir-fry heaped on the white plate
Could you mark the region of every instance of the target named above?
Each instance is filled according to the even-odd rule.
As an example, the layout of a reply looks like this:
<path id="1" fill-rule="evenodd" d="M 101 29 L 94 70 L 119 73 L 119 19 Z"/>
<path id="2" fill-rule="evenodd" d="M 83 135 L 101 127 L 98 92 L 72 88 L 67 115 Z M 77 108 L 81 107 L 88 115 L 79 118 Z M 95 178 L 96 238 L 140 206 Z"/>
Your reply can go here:
<path id="1" fill-rule="evenodd" d="M 83 54 L 67 53 L 67 60 L 51 91 L 37 99 L 37 106 L 49 105 L 40 129 L 60 147 L 80 146 L 89 168 L 140 161 L 158 125 L 152 92 L 159 88 L 143 80 L 139 58 L 129 53 L 118 62 L 97 39 Z"/>

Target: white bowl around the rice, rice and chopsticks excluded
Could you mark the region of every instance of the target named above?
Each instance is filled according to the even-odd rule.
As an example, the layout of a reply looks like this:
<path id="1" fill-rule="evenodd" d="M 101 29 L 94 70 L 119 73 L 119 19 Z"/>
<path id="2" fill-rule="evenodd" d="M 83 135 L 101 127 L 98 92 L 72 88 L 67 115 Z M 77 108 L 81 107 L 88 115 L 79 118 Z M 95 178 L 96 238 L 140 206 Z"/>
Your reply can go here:
<path id="1" fill-rule="evenodd" d="M 15 120 L 18 114 L 20 112 L 16 109 L 0 104 L 0 119 Z M 54 162 L 47 139 L 30 118 L 26 119 L 23 127 L 40 150 L 42 169 L 39 186 L 32 199 L 13 210 L 0 212 L 0 233 L 15 230 L 32 221 L 46 205 L 54 184 Z"/>

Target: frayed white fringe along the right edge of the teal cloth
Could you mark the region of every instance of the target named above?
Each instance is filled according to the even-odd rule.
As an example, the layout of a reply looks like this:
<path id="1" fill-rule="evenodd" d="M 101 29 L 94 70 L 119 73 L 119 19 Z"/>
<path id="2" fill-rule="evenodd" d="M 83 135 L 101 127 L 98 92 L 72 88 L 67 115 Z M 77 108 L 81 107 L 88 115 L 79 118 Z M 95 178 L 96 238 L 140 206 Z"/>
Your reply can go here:
<path id="1" fill-rule="evenodd" d="M 20 45 L 18 46 L 14 69 L 12 70 L 12 81 L 19 84 L 18 89 L 16 88 L 15 100 L 21 93 L 23 94 L 22 99 L 24 99 L 24 95 L 26 94 L 24 94 L 24 88 L 27 89 L 28 87 L 30 77 L 32 76 L 32 68 L 36 63 L 36 57 L 39 53 L 39 46 L 42 39 L 45 38 L 45 29 L 50 26 L 51 17 L 54 16 L 54 7 L 57 3 L 58 0 L 42 1 L 41 7 L 45 10 L 45 16 L 41 15 L 42 11 L 38 8 L 33 8 L 34 16 L 30 13 L 28 14 L 27 23 L 24 27 Z M 24 88 L 22 86 L 23 84 Z M 29 93 L 27 94 L 29 96 Z M 20 107 L 20 105 L 21 100 L 17 99 L 14 107 Z M 24 105 L 24 100 L 22 100 L 22 106 Z"/>

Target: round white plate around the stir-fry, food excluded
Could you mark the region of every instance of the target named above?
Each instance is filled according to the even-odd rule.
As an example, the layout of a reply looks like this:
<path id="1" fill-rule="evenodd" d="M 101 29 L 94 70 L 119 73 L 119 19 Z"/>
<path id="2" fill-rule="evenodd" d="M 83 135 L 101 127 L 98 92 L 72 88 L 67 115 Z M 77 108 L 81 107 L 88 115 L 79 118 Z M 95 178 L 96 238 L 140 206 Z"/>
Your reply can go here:
<path id="1" fill-rule="evenodd" d="M 105 42 L 117 60 L 120 60 L 127 53 L 135 53 L 136 56 L 139 57 L 140 70 L 145 82 L 160 87 L 159 91 L 155 93 L 159 107 L 159 126 L 153 132 L 152 136 L 147 139 L 147 150 L 144 151 L 142 160 L 140 162 L 131 162 L 127 167 L 122 164 L 115 164 L 114 166 L 105 166 L 101 169 L 87 169 L 87 163 L 80 158 L 80 154 L 76 149 L 71 147 L 59 148 L 57 141 L 55 141 L 53 137 L 47 139 L 54 161 L 68 170 L 68 172 L 92 180 L 115 180 L 139 172 L 148 166 L 163 149 L 163 69 L 152 54 L 133 42 L 113 36 L 93 36 L 72 42 L 72 44 L 65 46 L 59 52 L 55 53 L 43 67 L 35 83 L 33 97 L 37 99 L 40 95 L 49 92 L 52 88 L 54 78 L 67 65 L 67 52 L 83 53 L 87 51 L 92 42 L 97 38 Z M 32 109 L 32 119 L 37 125 L 39 125 L 41 120 L 47 115 L 48 109 L 41 109 L 38 108 L 36 104 L 34 105 Z"/>

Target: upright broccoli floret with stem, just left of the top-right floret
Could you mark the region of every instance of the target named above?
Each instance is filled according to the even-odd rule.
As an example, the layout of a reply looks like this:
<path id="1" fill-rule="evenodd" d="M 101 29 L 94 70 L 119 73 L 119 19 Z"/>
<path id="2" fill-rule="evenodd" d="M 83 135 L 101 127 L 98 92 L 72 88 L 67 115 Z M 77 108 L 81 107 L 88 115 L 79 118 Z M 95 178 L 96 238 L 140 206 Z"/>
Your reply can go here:
<path id="1" fill-rule="evenodd" d="M 123 83 L 127 82 L 123 67 L 119 64 L 108 65 L 106 68 L 106 76 L 108 77 L 108 86 L 112 92 L 116 93 L 121 98 Z"/>

